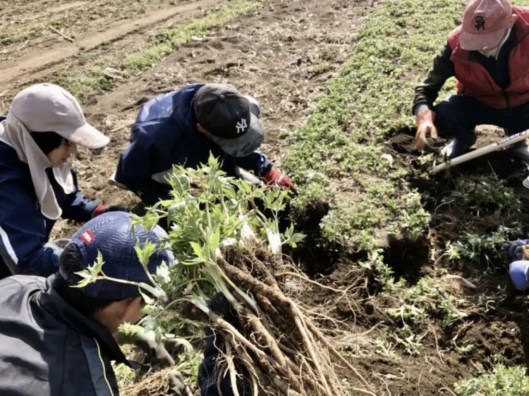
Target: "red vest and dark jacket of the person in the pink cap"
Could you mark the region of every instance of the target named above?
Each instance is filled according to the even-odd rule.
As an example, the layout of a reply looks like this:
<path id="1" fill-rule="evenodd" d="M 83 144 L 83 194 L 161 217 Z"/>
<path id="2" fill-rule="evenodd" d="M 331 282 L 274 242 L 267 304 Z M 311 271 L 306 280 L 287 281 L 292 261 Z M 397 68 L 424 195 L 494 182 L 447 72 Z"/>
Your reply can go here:
<path id="1" fill-rule="evenodd" d="M 518 13 L 518 20 L 516 20 L 509 38 L 501 47 L 497 59 L 483 56 L 479 51 L 461 50 L 461 48 L 454 43 L 454 39 L 458 41 L 456 32 L 458 32 L 459 28 L 450 33 L 448 39 L 450 43 L 447 41 L 446 44 L 444 44 L 434 58 L 433 66 L 428 71 L 425 80 L 415 87 L 415 97 L 413 98 L 412 107 L 413 113 L 415 113 L 416 109 L 422 105 L 426 105 L 429 109 L 432 109 L 434 101 L 439 94 L 439 90 L 449 78 L 456 76 L 462 80 L 466 79 L 468 73 L 464 75 L 461 74 L 461 66 L 463 65 L 465 68 L 471 68 L 471 70 L 474 70 L 472 73 L 477 73 L 476 75 L 480 75 L 480 78 L 475 78 L 476 75 L 472 77 L 472 79 L 477 80 L 479 84 L 478 87 L 473 86 L 470 90 L 465 89 L 460 81 L 460 84 L 458 84 L 459 94 L 469 94 L 470 96 L 476 97 L 478 100 L 482 100 L 483 98 L 479 97 L 479 87 L 482 87 L 483 94 L 492 93 L 492 91 L 489 92 L 492 89 L 494 94 L 503 98 L 506 97 L 506 92 L 508 93 L 513 90 L 517 92 L 522 80 L 527 80 L 527 76 L 520 79 L 518 75 L 522 73 L 523 70 L 526 70 L 528 64 L 527 61 L 525 61 L 528 52 L 528 49 L 525 47 L 529 44 L 529 39 L 526 33 L 528 23 L 524 19 L 527 18 L 528 8 L 513 7 L 513 10 Z M 516 68 L 511 68 L 510 63 L 513 62 L 513 56 L 516 54 L 518 54 L 518 56 L 515 57 L 515 63 L 512 65 L 516 66 Z M 458 64 L 457 73 L 454 62 Z M 525 72 L 523 75 L 525 75 Z M 476 91 L 476 88 L 478 88 L 478 91 Z M 505 105 L 516 106 L 517 104 L 521 104 L 520 101 L 508 104 L 504 99 L 502 99 L 501 102 L 501 106 L 497 106 L 497 108 L 505 107 Z M 525 99 L 522 102 L 525 102 Z M 484 101 L 484 103 L 489 106 L 491 105 L 491 103 L 487 101 Z"/>

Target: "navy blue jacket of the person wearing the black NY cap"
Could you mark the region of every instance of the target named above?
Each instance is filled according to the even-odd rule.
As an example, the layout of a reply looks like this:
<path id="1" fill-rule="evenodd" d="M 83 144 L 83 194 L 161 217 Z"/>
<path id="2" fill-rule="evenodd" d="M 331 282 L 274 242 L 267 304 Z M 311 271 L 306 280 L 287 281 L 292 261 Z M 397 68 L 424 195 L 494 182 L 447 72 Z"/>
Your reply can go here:
<path id="1" fill-rule="evenodd" d="M 155 204 L 167 197 L 167 185 L 152 180 L 152 175 L 183 165 L 197 168 L 207 163 L 209 152 L 224 160 L 224 170 L 233 164 L 265 175 L 272 163 L 265 154 L 234 158 L 224 153 L 213 142 L 197 132 L 193 115 L 193 98 L 203 84 L 183 87 L 179 91 L 162 94 L 143 105 L 130 135 L 130 146 L 121 154 L 116 170 L 116 181 L 126 185 L 146 204 Z"/>

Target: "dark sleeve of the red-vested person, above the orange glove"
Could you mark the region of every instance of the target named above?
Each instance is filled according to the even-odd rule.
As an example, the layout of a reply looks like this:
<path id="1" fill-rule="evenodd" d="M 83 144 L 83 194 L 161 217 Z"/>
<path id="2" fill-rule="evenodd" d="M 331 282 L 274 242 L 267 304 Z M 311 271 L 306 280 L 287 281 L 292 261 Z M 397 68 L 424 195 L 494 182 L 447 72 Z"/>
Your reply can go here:
<path id="1" fill-rule="evenodd" d="M 418 106 L 426 105 L 429 109 L 432 109 L 444 82 L 454 76 L 454 63 L 450 60 L 451 54 L 452 49 L 449 44 L 444 44 L 444 47 L 435 56 L 434 64 L 428 70 L 425 80 L 415 87 L 415 97 L 413 98 L 411 110 L 414 115 Z"/>

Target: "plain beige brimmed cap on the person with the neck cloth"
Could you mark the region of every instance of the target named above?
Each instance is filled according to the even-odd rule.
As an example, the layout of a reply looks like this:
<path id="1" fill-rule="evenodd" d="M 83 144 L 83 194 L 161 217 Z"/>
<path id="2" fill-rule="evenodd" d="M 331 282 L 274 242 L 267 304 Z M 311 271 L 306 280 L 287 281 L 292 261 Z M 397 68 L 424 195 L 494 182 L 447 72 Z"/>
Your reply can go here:
<path id="1" fill-rule="evenodd" d="M 59 87 L 42 83 L 20 91 L 11 103 L 13 113 L 32 132 L 56 132 L 88 149 L 100 149 L 109 138 L 86 122 L 77 99 Z"/>

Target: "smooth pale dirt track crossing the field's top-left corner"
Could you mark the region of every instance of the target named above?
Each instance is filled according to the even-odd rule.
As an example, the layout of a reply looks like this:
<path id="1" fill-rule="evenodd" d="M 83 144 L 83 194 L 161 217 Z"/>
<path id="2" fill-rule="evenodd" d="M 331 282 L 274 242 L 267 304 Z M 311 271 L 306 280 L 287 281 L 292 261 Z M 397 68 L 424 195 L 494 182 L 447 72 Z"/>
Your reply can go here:
<path id="1" fill-rule="evenodd" d="M 149 13 L 147 16 L 131 20 L 130 22 L 123 23 L 119 21 L 109 26 L 104 32 L 98 32 L 95 35 L 84 37 L 83 39 L 76 40 L 73 43 L 60 43 L 51 47 L 51 49 L 45 51 L 43 54 L 35 56 L 35 54 L 29 54 L 17 61 L 10 62 L 8 65 L 0 69 L 0 85 L 4 87 L 8 86 L 9 82 L 17 80 L 17 84 L 20 84 L 20 79 L 25 75 L 30 75 L 30 78 L 35 79 L 37 76 L 35 72 L 53 66 L 56 63 L 61 62 L 63 59 L 78 54 L 80 51 L 88 51 L 95 49 L 103 42 L 111 42 L 116 39 L 120 39 L 130 33 L 138 30 L 145 30 L 154 24 L 161 23 L 164 20 L 168 20 L 181 13 L 190 13 L 197 10 L 198 8 L 212 6 L 218 4 L 219 1 L 215 0 L 202 0 L 195 1 L 191 4 L 183 4 L 173 6 L 169 8 L 161 8 L 157 11 Z M 41 73 L 45 75 L 47 73 Z"/>

